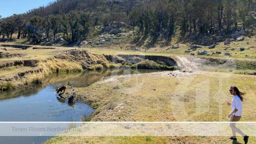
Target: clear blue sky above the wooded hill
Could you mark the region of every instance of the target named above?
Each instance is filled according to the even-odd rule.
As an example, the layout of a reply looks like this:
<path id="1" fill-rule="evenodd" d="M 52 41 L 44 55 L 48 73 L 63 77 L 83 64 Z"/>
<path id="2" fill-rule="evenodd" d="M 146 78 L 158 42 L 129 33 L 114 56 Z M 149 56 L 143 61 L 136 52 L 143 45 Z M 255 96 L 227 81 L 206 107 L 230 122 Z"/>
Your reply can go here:
<path id="1" fill-rule="evenodd" d="M 46 6 L 54 0 L 0 0 L 0 15 L 2 18 L 27 12 L 30 9 Z"/>

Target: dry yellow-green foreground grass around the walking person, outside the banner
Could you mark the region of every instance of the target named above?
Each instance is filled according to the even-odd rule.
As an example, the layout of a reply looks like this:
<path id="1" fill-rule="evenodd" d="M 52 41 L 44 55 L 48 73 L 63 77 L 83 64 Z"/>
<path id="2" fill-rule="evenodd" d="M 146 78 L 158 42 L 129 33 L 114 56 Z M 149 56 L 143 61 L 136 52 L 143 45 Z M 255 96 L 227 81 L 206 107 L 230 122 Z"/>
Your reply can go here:
<path id="1" fill-rule="evenodd" d="M 78 100 L 96 108 L 91 121 L 228 121 L 232 100 L 229 87 L 245 92 L 240 121 L 256 121 L 256 76 L 227 76 L 204 72 L 189 77 L 119 76 L 103 79 L 89 87 L 75 88 Z M 209 85 L 208 85 L 209 84 Z M 135 86 L 136 85 L 136 86 Z M 181 90 L 185 90 L 184 93 Z M 209 96 L 207 95 L 209 92 Z M 196 92 L 209 97 L 209 111 L 196 113 Z M 180 97 L 185 113 L 177 115 L 173 97 Z M 221 111 L 220 111 L 221 107 Z M 188 120 L 188 118 L 190 120 Z M 231 131 L 231 129 L 230 129 Z M 237 134 L 239 135 L 239 134 Z M 238 136 L 237 143 L 243 143 Z M 250 137 L 249 143 L 256 143 Z M 228 137 L 55 137 L 46 143 L 232 143 Z M 235 142 L 236 143 L 236 142 Z"/>

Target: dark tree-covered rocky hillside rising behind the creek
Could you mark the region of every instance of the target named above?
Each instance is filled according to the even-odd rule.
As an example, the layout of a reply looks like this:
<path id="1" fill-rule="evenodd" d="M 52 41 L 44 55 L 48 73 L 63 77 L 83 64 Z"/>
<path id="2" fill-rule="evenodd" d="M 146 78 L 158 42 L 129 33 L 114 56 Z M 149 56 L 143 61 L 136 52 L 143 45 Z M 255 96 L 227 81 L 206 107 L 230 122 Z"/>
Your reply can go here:
<path id="1" fill-rule="evenodd" d="M 49 46 L 131 43 L 151 48 L 199 39 L 198 45 L 210 46 L 226 38 L 254 36 L 254 10 L 250 0 L 57 0 L 1 19 L 0 35 L 1 41 L 17 38 L 26 40 L 23 44 Z"/>

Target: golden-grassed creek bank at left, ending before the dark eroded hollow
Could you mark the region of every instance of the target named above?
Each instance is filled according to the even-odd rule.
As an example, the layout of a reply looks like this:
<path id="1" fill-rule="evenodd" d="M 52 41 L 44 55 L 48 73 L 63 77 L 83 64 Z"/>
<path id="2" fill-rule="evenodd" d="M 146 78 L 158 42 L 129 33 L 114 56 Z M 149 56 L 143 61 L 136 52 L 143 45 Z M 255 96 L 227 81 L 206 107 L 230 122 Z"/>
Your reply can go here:
<path id="1" fill-rule="evenodd" d="M 104 56 L 89 53 L 86 50 L 63 51 L 54 57 L 43 60 L 14 60 L 2 62 L 0 70 L 0 91 L 12 90 L 43 83 L 53 73 L 81 72 L 94 65 L 107 68 L 110 62 Z M 20 71 L 17 71 L 20 69 Z M 13 71 L 13 73 L 10 71 Z M 5 75 L 8 73 L 8 75 Z"/>

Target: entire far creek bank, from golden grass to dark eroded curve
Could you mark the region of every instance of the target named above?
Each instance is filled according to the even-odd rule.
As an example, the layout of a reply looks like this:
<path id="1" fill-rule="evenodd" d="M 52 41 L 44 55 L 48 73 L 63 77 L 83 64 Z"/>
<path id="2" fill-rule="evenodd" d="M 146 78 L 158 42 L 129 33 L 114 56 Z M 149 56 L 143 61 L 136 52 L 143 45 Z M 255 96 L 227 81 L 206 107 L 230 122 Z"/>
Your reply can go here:
<path id="1" fill-rule="evenodd" d="M 84 49 L 72 49 L 59 52 L 55 56 L 45 59 L 2 62 L 0 64 L 2 71 L 0 91 L 42 84 L 45 77 L 53 73 L 121 67 L 174 70 L 178 69 L 174 67 L 175 64 L 174 59 L 164 56 L 97 55 Z M 7 72 L 8 76 L 5 75 Z"/>

